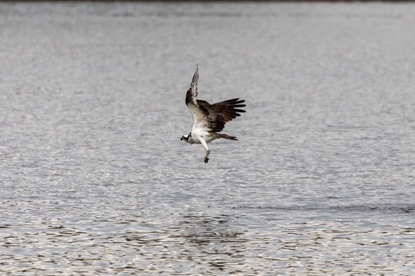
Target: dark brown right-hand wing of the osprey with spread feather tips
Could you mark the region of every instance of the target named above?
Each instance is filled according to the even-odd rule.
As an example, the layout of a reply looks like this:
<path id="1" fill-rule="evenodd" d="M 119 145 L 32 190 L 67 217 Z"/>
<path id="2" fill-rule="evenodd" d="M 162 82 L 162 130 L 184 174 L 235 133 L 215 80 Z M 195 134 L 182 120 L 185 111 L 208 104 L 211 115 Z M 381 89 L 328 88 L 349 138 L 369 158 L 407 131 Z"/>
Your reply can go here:
<path id="1" fill-rule="evenodd" d="M 245 110 L 239 109 L 246 106 L 242 104 L 244 99 L 228 99 L 228 101 L 221 101 L 219 103 L 210 104 L 208 101 L 197 100 L 199 108 L 203 113 L 203 119 L 207 122 L 206 126 L 212 129 L 212 132 L 221 132 L 225 128 L 228 121 L 232 121 L 239 113 Z"/>

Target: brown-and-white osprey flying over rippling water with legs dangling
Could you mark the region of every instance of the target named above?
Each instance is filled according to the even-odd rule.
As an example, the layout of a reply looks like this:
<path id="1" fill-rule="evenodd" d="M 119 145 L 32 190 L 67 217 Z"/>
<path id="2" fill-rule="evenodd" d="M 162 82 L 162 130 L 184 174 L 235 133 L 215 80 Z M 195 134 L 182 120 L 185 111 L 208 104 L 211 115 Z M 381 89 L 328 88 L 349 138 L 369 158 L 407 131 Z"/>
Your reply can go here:
<path id="1" fill-rule="evenodd" d="M 186 106 L 189 108 L 193 117 L 193 127 L 189 134 L 183 135 L 181 140 L 189 144 L 202 144 L 206 150 L 205 163 L 209 161 L 210 150 L 208 143 L 214 139 L 230 139 L 238 140 L 237 137 L 219 133 L 225 128 L 228 121 L 232 121 L 238 116 L 239 112 L 245 110 L 237 109 L 246 106 L 241 104 L 245 102 L 244 99 L 228 99 L 228 101 L 221 101 L 219 103 L 210 104 L 208 101 L 197 99 L 197 83 L 199 81 L 199 68 L 196 64 L 196 71 L 194 72 L 192 83 L 186 93 Z"/>

